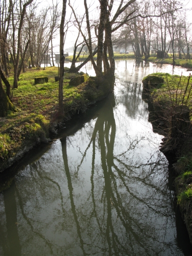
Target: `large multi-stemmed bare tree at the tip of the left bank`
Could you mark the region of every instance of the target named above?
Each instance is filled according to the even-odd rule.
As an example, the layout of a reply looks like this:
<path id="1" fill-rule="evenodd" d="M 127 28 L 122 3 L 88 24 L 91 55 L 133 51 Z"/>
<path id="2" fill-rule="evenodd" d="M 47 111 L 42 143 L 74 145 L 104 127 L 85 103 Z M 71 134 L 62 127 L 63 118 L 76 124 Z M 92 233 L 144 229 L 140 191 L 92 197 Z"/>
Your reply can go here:
<path id="1" fill-rule="evenodd" d="M 75 17 L 75 20 L 78 24 L 78 28 L 81 32 L 81 35 L 88 47 L 90 60 L 92 62 L 93 68 L 96 73 L 97 78 L 101 78 L 103 76 L 102 72 L 102 62 L 104 63 L 105 68 L 105 74 L 109 75 L 109 77 L 112 77 L 111 84 L 114 81 L 114 54 L 112 49 L 112 32 L 116 31 L 118 28 L 120 28 L 123 24 L 125 24 L 132 13 L 134 13 L 135 9 L 133 8 L 131 12 L 125 13 L 125 10 L 128 6 L 130 6 L 133 2 L 136 0 L 129 0 L 128 2 L 124 2 L 121 0 L 117 10 L 115 11 L 114 15 L 111 15 L 112 7 L 113 7 L 113 1 L 110 1 L 108 3 L 107 0 L 99 1 L 99 21 L 97 22 L 96 26 L 93 24 L 90 24 L 89 19 L 89 7 L 87 6 L 87 1 L 84 0 L 84 8 L 85 8 L 85 15 L 86 15 L 86 29 L 88 33 L 88 38 L 83 33 L 81 27 L 80 27 L 80 21 L 78 20 L 74 9 L 72 6 L 70 6 L 73 9 L 73 14 Z M 69 1 L 70 4 L 70 1 Z M 123 15 L 122 15 L 123 13 Z M 123 16 L 122 18 L 119 18 L 120 16 Z M 95 34 L 97 37 L 97 60 L 96 63 L 93 59 L 93 49 L 92 49 L 92 31 L 91 29 L 95 30 Z M 107 59 L 107 53 L 109 56 L 109 61 Z M 113 85 L 111 86 L 111 89 L 113 88 Z"/>

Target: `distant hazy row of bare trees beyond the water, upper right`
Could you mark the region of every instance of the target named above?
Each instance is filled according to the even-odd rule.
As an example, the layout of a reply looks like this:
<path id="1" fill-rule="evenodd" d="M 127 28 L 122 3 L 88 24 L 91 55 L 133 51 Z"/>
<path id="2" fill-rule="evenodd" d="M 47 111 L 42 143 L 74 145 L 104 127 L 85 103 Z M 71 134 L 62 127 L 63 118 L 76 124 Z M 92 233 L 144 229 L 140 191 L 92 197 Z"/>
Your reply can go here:
<path id="1" fill-rule="evenodd" d="M 141 8 L 137 6 L 138 15 L 113 35 L 115 47 L 126 50 L 131 45 L 138 58 L 144 56 L 147 59 L 153 49 L 162 58 L 171 52 L 173 63 L 175 52 L 179 58 L 190 59 L 192 30 L 183 7 L 175 0 L 143 2 Z"/>

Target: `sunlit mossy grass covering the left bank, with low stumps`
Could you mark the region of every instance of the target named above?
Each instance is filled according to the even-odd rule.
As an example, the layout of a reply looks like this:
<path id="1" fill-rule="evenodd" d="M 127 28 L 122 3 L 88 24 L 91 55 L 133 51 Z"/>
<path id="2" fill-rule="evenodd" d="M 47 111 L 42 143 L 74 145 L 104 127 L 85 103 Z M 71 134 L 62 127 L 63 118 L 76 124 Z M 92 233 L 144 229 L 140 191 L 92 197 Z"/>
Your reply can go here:
<path id="1" fill-rule="evenodd" d="M 77 74 L 66 71 L 67 68 L 63 82 L 65 120 L 75 112 L 84 111 L 89 101 L 100 96 L 94 82 L 91 88 L 85 83 L 69 86 L 70 78 Z M 17 111 L 0 117 L 0 171 L 18 160 L 36 143 L 46 142 L 55 133 L 59 122 L 58 82 L 54 79 L 57 73 L 57 67 L 46 67 L 45 70 L 32 68 L 19 76 L 18 88 L 13 90 L 12 100 Z M 41 76 L 47 76 L 48 82 L 34 84 L 34 78 Z M 10 83 L 12 79 L 10 74 Z"/>

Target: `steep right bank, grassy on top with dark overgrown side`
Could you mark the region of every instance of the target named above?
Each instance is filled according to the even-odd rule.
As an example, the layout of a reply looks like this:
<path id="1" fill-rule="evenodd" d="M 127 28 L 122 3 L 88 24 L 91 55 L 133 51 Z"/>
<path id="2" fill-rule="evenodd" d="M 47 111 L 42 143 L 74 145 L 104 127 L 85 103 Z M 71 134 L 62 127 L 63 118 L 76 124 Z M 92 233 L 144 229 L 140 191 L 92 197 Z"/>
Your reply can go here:
<path id="1" fill-rule="evenodd" d="M 173 163 L 177 203 L 192 244 L 191 79 L 156 73 L 142 82 L 153 131 L 164 135 L 160 150 Z"/>

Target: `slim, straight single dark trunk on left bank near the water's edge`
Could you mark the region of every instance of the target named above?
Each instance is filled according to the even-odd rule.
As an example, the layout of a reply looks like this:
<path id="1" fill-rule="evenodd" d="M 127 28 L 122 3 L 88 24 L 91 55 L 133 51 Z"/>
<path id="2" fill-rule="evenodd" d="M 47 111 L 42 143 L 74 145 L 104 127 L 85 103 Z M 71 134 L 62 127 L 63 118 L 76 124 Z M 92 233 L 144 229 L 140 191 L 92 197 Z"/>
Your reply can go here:
<path id="1" fill-rule="evenodd" d="M 64 19 L 66 14 L 66 0 L 62 0 L 62 15 L 60 21 L 60 72 L 58 83 L 58 112 L 64 114 L 63 108 L 63 77 L 64 77 Z"/>

